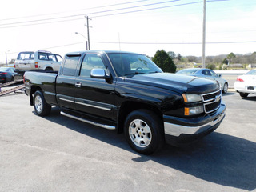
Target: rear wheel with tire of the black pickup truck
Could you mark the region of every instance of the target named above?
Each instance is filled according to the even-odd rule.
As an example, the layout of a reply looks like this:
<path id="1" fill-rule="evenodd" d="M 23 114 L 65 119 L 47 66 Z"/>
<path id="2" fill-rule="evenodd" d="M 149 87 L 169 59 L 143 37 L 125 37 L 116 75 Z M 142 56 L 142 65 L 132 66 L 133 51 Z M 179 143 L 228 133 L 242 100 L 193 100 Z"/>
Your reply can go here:
<path id="1" fill-rule="evenodd" d="M 42 94 L 42 91 L 37 90 L 34 93 L 34 110 L 39 116 L 47 116 L 50 114 L 51 106 L 46 103 L 46 100 Z"/>

